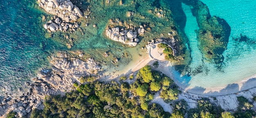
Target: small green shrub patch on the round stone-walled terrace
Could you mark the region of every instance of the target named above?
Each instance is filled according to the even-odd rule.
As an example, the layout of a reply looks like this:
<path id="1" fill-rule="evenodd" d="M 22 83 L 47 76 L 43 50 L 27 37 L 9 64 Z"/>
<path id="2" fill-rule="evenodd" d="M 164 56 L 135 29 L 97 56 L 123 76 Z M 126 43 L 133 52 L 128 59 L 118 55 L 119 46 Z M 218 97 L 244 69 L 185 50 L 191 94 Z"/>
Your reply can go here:
<path id="1" fill-rule="evenodd" d="M 157 45 L 158 48 L 163 48 L 164 49 L 164 54 L 165 54 L 165 59 L 169 60 L 169 61 L 174 61 L 174 57 L 173 57 L 173 49 L 170 48 L 167 44 L 158 44 Z"/>

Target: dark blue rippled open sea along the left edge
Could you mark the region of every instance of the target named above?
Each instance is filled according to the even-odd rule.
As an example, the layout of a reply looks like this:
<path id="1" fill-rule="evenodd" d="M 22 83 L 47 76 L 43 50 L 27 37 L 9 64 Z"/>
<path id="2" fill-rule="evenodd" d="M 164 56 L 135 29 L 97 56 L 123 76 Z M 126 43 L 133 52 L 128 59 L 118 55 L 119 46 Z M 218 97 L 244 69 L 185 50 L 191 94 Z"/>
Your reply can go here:
<path id="1" fill-rule="evenodd" d="M 58 50 L 42 31 L 42 11 L 34 0 L 2 0 L 0 5 L 0 88 L 16 89 L 46 68 L 49 50 Z"/>

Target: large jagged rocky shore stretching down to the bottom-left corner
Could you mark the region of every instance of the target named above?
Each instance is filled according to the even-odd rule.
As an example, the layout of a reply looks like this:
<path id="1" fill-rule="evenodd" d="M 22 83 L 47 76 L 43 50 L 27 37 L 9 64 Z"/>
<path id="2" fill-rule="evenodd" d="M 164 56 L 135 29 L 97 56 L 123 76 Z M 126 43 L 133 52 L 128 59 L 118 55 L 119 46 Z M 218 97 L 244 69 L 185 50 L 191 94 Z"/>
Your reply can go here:
<path id="1" fill-rule="evenodd" d="M 31 109 L 43 109 L 45 96 L 64 95 L 72 90 L 74 82 L 79 81 L 81 76 L 92 75 L 100 69 L 94 59 L 83 61 L 71 58 L 67 53 L 58 53 L 57 57 L 52 57 L 51 64 L 51 70 L 41 70 L 32 83 L 27 82 L 30 88 L 27 94 L 17 99 L 7 95 L 0 102 L 0 116 L 16 111 L 21 118 L 29 114 Z"/>

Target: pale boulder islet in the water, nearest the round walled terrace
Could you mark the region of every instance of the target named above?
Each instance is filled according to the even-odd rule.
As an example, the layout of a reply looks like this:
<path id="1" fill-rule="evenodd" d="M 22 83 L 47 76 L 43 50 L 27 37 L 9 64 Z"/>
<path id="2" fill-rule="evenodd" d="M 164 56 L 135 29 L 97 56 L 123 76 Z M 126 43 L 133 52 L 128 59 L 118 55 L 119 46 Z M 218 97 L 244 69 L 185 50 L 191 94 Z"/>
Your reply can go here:
<path id="1" fill-rule="evenodd" d="M 128 44 L 129 46 L 136 46 L 139 39 L 137 35 L 144 35 L 144 28 L 134 28 L 134 30 L 126 30 L 124 28 L 119 29 L 119 27 L 108 28 L 106 29 L 106 35 L 108 38 L 116 41 L 121 42 L 123 44 Z"/>

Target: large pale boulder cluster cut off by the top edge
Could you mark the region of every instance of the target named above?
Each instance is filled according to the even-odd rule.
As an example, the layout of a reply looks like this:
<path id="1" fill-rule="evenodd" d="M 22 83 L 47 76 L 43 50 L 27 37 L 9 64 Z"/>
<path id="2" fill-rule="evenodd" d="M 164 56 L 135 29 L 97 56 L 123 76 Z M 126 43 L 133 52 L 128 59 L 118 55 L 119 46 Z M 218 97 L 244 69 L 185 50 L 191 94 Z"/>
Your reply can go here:
<path id="1" fill-rule="evenodd" d="M 82 12 L 70 0 L 39 0 L 39 6 L 47 13 L 61 17 L 65 22 L 76 21 Z"/>

